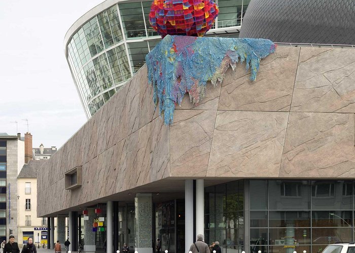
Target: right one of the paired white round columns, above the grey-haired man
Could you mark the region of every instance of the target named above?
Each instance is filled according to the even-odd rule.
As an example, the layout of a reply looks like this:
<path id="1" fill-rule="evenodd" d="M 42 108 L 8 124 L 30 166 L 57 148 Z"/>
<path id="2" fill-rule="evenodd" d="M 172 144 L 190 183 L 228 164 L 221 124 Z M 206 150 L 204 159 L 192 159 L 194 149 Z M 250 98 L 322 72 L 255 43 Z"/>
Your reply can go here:
<path id="1" fill-rule="evenodd" d="M 196 180 L 196 235 L 204 235 L 204 180 Z"/>

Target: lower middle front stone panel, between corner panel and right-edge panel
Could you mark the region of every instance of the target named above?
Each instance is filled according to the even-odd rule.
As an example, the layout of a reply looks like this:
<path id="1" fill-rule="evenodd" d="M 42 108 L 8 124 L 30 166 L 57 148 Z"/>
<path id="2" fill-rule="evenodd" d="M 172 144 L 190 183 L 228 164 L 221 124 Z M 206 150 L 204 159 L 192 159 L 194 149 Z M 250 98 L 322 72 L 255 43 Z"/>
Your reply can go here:
<path id="1" fill-rule="evenodd" d="M 288 112 L 218 111 L 209 177 L 277 177 Z"/>

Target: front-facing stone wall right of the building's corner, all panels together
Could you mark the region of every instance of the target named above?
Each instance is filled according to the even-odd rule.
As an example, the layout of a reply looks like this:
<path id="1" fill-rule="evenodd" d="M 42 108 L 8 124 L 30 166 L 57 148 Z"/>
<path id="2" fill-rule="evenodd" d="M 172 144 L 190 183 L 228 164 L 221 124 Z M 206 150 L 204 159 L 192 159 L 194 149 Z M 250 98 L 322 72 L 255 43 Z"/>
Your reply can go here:
<path id="1" fill-rule="evenodd" d="M 170 126 L 170 176 L 355 178 L 355 50 L 277 47 Z M 177 142 L 181 140 L 181 142 Z"/>

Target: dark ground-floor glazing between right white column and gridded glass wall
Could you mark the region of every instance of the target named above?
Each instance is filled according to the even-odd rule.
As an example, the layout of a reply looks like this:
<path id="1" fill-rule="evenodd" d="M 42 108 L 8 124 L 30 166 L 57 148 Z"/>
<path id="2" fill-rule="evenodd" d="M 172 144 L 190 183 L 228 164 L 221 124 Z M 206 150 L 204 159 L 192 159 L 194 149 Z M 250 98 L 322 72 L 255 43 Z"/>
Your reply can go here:
<path id="1" fill-rule="evenodd" d="M 244 245 L 244 181 L 205 188 L 205 242 L 220 242 L 224 253 Z"/>

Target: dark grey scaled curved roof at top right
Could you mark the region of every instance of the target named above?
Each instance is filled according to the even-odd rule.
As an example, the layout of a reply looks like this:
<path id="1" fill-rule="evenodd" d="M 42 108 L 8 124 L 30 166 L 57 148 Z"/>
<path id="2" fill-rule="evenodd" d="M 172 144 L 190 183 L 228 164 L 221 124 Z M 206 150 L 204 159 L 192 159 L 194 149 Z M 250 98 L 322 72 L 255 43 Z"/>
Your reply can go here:
<path id="1" fill-rule="evenodd" d="M 355 45 L 354 0 L 252 0 L 239 37 Z"/>

